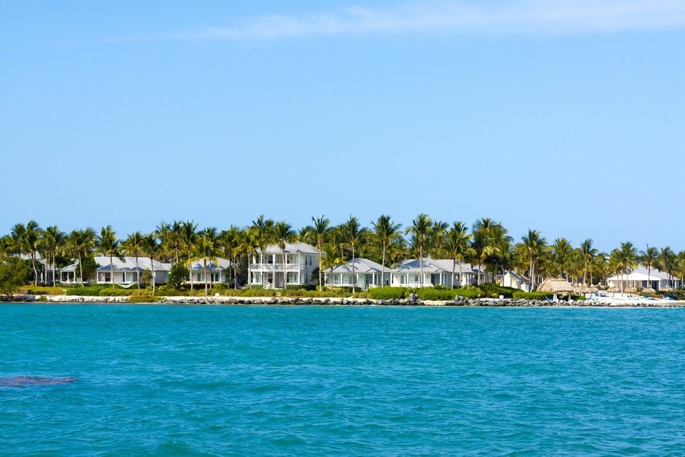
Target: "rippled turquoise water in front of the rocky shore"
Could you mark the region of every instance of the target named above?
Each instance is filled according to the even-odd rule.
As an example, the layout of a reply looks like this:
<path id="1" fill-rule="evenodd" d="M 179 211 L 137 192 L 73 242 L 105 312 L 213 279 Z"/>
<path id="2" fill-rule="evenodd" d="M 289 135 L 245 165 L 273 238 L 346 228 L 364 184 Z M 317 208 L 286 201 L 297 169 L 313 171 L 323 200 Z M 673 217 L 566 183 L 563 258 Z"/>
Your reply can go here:
<path id="1" fill-rule="evenodd" d="M 682 455 L 685 310 L 1 305 L 0 454 Z"/>

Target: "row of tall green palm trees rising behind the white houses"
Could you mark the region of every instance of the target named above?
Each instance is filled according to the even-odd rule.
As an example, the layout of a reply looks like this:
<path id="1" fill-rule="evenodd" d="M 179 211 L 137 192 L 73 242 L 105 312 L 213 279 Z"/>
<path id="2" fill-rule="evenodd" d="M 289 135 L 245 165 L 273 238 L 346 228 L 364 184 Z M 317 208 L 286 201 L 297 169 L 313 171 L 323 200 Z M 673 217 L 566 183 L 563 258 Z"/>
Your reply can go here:
<path id="1" fill-rule="evenodd" d="M 55 269 L 73 262 L 78 263 L 82 280 L 89 277 L 92 274 L 88 271 L 89 259 L 92 266 L 92 256 L 100 254 L 110 259 L 112 277 L 113 259 L 123 256 L 135 258 L 136 265 L 139 258 L 148 258 L 151 264 L 157 260 L 183 265 L 184 268 L 176 269 L 174 280 L 190 280 L 192 288 L 188 265 L 199 261 L 203 264 L 207 291 L 208 262 L 216 262 L 219 257 L 230 260 L 231 282 L 237 287 L 249 282 L 250 256 L 258 256 L 268 245 L 278 245 L 285 258 L 286 243 L 298 240 L 320 252 L 319 284 L 323 284 L 322 271 L 332 271 L 337 265 L 356 258 L 369 258 L 383 269 L 396 267 L 411 258 L 449 259 L 453 277 L 457 268 L 469 263 L 478 267 L 478 284 L 484 280 L 480 271 L 493 273 L 490 277 L 496 280 L 499 272 L 512 270 L 530 278 L 532 288 L 545 277 L 564 277 L 574 284 L 606 284 L 608 277 L 628 274 L 639 263 L 648 271 L 658 268 L 668 273 L 669 278 L 685 276 L 685 251 L 676 254 L 670 247 L 658 249 L 647 245 L 644 250 L 638 250 L 632 243 L 623 242 L 612 251 L 603 252 L 593 246 L 591 238 L 573 247 L 566 238 L 549 242 L 538 230 L 528 230 L 516 241 L 501 222 L 493 219 L 478 219 L 469 226 L 462 221 L 437 221 L 428 214 L 419 214 L 407 227 L 386 214 L 368 226 L 353 216 L 333 225 L 322 215 L 312 217 L 312 223 L 299 230 L 286 221 L 267 219 L 263 214 L 251 225 L 231 225 L 225 230 L 199 229 L 194 221 L 162 221 L 152 232 L 134 232 L 125 237 L 117 236 L 111 225 L 101 227 L 99 232 L 86 227 L 66 233 L 56 225 L 42 228 L 36 221 L 29 221 L 17 223 L 9 234 L 0 237 L 0 256 L 5 262 L 25 256 L 31 262 L 35 284 L 43 268 L 39 259 L 47 260 L 52 268 L 53 285 Z M 154 281 L 152 284 L 154 287 Z"/>

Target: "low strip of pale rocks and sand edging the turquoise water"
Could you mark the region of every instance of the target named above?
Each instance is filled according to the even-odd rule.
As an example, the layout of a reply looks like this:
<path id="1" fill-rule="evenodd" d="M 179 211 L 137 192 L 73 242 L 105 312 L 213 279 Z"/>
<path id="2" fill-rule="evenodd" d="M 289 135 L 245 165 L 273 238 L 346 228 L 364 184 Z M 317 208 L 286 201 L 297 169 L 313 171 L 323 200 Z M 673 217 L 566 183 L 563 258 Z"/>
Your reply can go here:
<path id="1" fill-rule="evenodd" d="M 91 297 L 75 295 L 14 295 L 12 301 L 48 303 L 82 303 L 82 304 L 123 304 L 129 297 Z M 457 297 L 448 301 L 421 301 L 419 299 L 374 300 L 365 298 L 340 297 L 164 297 L 156 304 L 189 304 L 189 305 L 283 305 L 283 306 L 497 306 L 510 308 L 534 307 L 630 307 L 630 308 L 680 308 L 683 301 L 557 301 L 524 300 L 524 299 L 464 299 Z"/>

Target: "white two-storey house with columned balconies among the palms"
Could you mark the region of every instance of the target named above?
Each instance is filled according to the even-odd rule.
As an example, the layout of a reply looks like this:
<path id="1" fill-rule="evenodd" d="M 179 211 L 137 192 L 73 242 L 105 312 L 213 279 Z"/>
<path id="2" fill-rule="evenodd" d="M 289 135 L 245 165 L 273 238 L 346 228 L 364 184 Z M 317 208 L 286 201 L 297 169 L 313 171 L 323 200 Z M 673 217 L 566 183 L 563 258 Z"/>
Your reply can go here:
<path id="1" fill-rule="evenodd" d="M 285 257 L 279 245 L 259 249 L 249 262 L 250 284 L 264 288 L 288 285 L 309 286 L 318 278 L 312 275 L 319 267 L 319 250 L 307 243 L 286 243 Z M 287 275 L 287 277 L 284 275 Z"/>

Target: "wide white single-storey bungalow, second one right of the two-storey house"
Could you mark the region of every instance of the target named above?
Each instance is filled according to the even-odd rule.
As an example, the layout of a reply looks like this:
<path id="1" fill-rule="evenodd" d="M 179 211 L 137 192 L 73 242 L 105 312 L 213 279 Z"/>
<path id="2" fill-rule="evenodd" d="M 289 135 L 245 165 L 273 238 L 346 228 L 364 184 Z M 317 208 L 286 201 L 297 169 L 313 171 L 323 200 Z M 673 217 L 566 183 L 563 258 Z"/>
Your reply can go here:
<path id="1" fill-rule="evenodd" d="M 459 262 L 456 264 L 451 259 L 432 259 L 405 260 L 397 269 L 390 273 L 390 283 L 393 286 L 401 287 L 420 287 L 421 286 L 421 264 L 423 263 L 423 286 L 431 287 L 437 284 L 452 286 L 452 268 L 454 268 L 454 286 L 466 286 L 477 284 L 478 268 Z M 486 281 L 491 276 L 482 273 L 481 281 Z"/>

